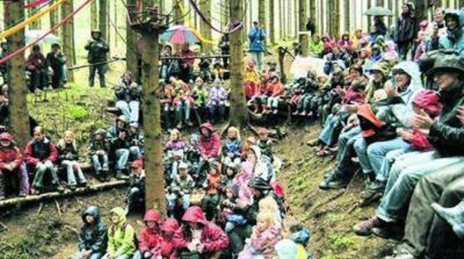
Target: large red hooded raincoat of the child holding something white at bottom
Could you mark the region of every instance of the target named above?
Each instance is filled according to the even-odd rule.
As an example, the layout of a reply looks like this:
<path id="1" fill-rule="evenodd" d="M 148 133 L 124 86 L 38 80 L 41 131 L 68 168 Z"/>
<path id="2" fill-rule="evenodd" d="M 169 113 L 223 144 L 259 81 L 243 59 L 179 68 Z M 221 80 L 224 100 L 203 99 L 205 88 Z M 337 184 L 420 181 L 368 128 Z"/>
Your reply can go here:
<path id="1" fill-rule="evenodd" d="M 191 206 L 187 209 L 184 217 L 184 222 L 197 222 L 203 225 L 202 236 L 200 242 L 204 245 L 203 253 L 213 254 L 217 251 L 227 249 L 229 246 L 229 238 L 219 226 L 208 222 L 203 215 L 202 208 L 199 206 Z M 185 249 L 191 240 L 184 235 L 184 226 L 182 226 L 174 235 L 173 244 L 175 249 Z"/>

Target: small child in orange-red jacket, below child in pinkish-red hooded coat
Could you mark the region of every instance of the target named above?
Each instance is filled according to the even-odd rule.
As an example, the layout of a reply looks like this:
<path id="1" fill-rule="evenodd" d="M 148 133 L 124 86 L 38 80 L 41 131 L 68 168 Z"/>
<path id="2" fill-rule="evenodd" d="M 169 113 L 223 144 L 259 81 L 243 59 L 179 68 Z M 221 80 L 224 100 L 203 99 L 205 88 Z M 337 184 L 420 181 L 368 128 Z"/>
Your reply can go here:
<path id="1" fill-rule="evenodd" d="M 213 162 L 209 168 L 207 177 L 208 186 L 206 187 L 206 195 L 202 200 L 202 209 L 206 213 L 208 220 L 213 220 L 217 215 L 217 206 L 220 201 L 220 186 L 221 186 L 221 163 Z"/>

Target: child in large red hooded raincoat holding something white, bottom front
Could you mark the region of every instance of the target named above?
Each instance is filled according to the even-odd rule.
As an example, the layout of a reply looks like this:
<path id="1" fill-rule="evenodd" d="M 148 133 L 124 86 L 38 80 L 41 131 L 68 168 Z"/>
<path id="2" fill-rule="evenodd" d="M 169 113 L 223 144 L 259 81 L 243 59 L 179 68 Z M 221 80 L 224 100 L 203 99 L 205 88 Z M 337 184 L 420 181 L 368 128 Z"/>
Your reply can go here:
<path id="1" fill-rule="evenodd" d="M 183 226 L 175 233 L 173 244 L 183 258 L 219 258 L 229 246 L 229 238 L 219 226 L 208 222 L 202 208 L 192 206 L 182 217 Z"/>

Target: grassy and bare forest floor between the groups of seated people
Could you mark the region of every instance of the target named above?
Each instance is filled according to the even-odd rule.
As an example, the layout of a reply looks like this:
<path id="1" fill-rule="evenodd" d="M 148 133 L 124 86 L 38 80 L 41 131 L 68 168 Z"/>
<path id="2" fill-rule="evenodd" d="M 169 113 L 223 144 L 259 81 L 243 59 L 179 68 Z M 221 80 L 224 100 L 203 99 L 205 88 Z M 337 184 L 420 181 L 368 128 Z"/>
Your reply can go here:
<path id="1" fill-rule="evenodd" d="M 285 62 L 286 67 L 289 63 L 289 60 Z M 117 82 L 122 71 L 123 64 L 112 65 L 109 81 Z M 43 102 L 44 94 L 28 96 L 29 109 L 53 139 L 65 129 L 76 132 L 81 152 L 85 154 L 89 133 L 98 127 L 107 127 L 114 120 L 114 116 L 104 112 L 113 92 L 86 87 L 87 70 L 78 71 L 75 76 L 77 84 L 48 93 L 47 102 Z M 319 125 L 288 125 L 284 130 L 288 136 L 274 148 L 274 153 L 284 162 L 278 179 L 285 186 L 291 215 L 312 232 L 308 248 L 314 258 L 382 258 L 390 254 L 393 242 L 358 237 L 351 231 L 354 224 L 375 211 L 374 206 L 356 206 L 364 188 L 361 177 L 346 190 L 319 190 L 323 174 L 333 166 L 333 161 L 316 157 L 305 145 L 318 136 Z M 125 205 L 125 193 L 126 188 L 115 188 L 56 202 L 3 209 L 0 211 L 0 259 L 68 258 L 77 248 L 80 212 L 87 206 L 98 205 L 102 220 L 109 222 L 109 210 Z M 131 215 L 129 220 L 136 229 L 143 226 L 141 215 Z"/>

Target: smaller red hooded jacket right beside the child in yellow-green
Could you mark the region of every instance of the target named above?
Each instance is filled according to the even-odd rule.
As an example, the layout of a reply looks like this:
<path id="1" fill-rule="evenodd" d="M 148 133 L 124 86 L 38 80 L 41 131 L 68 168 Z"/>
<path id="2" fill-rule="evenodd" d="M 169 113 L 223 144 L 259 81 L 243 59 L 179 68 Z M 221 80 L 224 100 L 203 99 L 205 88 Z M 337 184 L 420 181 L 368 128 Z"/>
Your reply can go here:
<path id="1" fill-rule="evenodd" d="M 161 225 L 161 214 L 158 211 L 150 210 L 143 217 L 145 224 L 148 220 L 158 222 Z M 161 253 L 161 229 L 157 226 L 156 229 L 149 229 L 145 226 L 139 235 L 139 250 L 143 252 L 149 251 L 154 256 Z"/>

